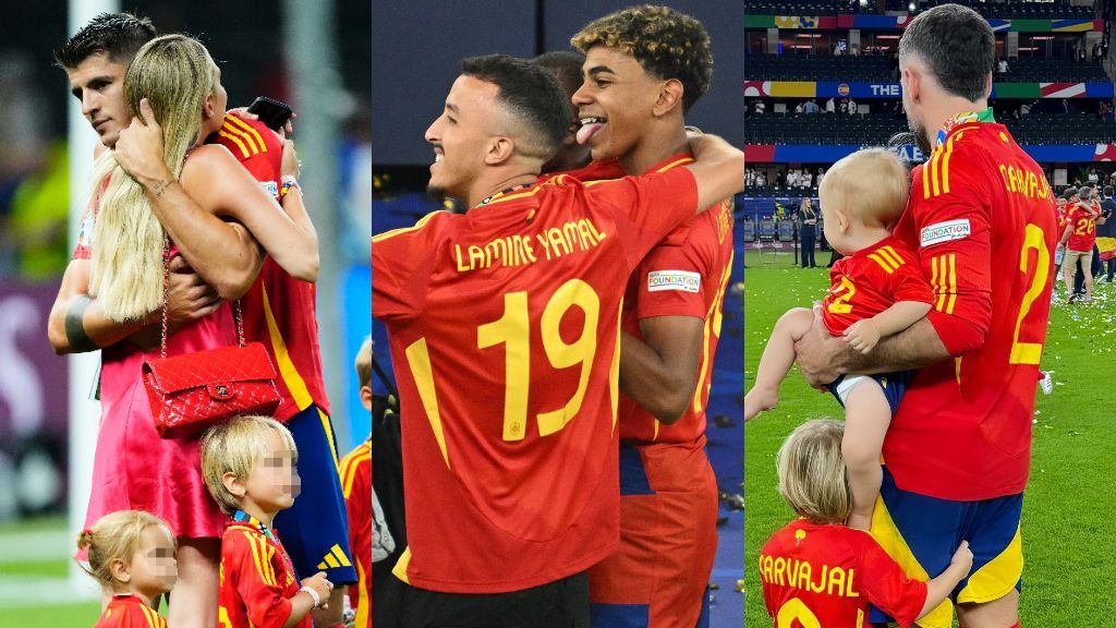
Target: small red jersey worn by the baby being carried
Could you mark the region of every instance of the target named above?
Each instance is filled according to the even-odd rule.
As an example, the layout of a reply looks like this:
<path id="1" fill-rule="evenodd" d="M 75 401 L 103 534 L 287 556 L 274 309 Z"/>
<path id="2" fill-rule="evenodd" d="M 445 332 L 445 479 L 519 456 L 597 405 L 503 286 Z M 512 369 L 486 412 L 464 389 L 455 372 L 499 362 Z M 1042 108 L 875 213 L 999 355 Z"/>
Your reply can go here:
<path id="1" fill-rule="evenodd" d="M 829 294 L 821 321 L 839 336 L 857 321 L 872 318 L 901 301 L 933 303 L 930 284 L 911 249 L 888 236 L 843 257 L 829 269 Z"/>

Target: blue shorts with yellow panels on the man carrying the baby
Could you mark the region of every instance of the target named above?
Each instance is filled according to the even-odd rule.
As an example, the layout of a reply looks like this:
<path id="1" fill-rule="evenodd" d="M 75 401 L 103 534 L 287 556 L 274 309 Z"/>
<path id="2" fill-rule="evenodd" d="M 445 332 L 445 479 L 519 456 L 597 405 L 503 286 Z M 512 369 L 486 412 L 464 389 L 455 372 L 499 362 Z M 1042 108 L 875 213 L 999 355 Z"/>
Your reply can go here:
<path id="1" fill-rule="evenodd" d="M 1023 551 L 1019 517 L 1023 494 L 954 502 L 903 491 L 884 466 L 884 482 L 872 515 L 872 535 L 912 578 L 930 580 L 945 571 L 961 541 L 969 541 L 973 567 L 950 598 L 918 620 L 923 628 L 950 628 L 956 602 L 990 602 L 1022 584 Z M 872 608 L 872 622 L 892 621 Z"/>

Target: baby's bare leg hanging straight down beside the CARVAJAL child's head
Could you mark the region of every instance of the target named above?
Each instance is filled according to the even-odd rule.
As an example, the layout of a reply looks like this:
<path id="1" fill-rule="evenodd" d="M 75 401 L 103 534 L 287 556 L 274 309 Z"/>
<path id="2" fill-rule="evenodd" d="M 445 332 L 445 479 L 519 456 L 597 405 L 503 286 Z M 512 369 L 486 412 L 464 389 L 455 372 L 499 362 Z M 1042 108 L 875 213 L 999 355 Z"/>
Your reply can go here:
<path id="1" fill-rule="evenodd" d="M 892 422 L 892 408 L 879 384 L 865 379 L 849 391 L 845 399 L 845 438 L 841 454 L 848 467 L 848 485 L 853 492 L 853 514 L 848 526 L 859 530 L 872 527 L 872 511 L 879 495 L 884 470 L 879 466 L 879 451 L 884 436 Z"/>

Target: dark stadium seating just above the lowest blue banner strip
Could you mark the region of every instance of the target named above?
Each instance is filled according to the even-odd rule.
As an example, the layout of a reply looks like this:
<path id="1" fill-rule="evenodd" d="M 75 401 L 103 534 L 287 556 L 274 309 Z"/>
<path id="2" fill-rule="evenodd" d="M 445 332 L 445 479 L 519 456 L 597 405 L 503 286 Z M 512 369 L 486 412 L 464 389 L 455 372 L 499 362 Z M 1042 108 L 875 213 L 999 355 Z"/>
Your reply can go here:
<path id="1" fill-rule="evenodd" d="M 750 117 L 756 121 L 756 116 Z M 749 144 L 879 145 L 907 131 L 905 117 L 838 114 L 763 114 L 761 124 L 748 124 Z M 1028 115 L 1019 121 L 999 116 L 1020 144 L 1094 144 L 1116 142 L 1116 123 L 1096 114 Z"/>

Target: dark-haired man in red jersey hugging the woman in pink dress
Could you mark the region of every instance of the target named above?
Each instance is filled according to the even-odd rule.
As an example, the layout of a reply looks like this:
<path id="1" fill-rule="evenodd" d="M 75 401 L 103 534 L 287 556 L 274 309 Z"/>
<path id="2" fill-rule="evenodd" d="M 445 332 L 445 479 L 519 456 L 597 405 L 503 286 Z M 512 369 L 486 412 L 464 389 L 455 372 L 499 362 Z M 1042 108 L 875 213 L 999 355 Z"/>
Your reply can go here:
<path id="1" fill-rule="evenodd" d="M 132 57 L 154 37 L 155 29 L 147 19 L 102 13 L 56 56 L 102 144 L 114 149 L 121 166 L 144 185 L 153 210 L 183 257 L 213 278 L 213 286 L 208 286 L 184 264 L 173 272 L 169 297 L 172 320 L 194 320 L 212 313 L 220 305 L 219 294 L 243 295 L 246 339 L 263 343 L 278 367 L 277 384 L 283 402 L 276 418 L 295 435 L 302 453 L 299 474 L 307 486 L 315 487 L 278 516 L 277 527 L 300 573 L 326 571 L 338 584 L 329 608 L 314 611 L 317 622 L 333 627 L 340 621 L 344 584 L 356 581 L 356 571 L 349 559 L 345 501 L 321 378 L 315 287 L 264 259 L 254 241 L 246 247 L 250 237 L 240 225 L 202 211 L 166 171 L 157 125 L 135 120 L 121 89 Z M 150 112 L 146 117 L 152 118 Z M 297 179 L 282 177 L 285 164 L 297 177 L 292 143 L 285 150 L 289 140 L 277 136 L 250 115 L 235 113 L 227 116 L 213 140 L 225 145 L 285 211 L 305 215 Z M 86 238 L 92 231 L 93 217 L 87 216 L 79 251 L 88 245 Z M 172 269 L 179 263 L 172 263 Z M 51 343 L 59 353 L 95 351 L 144 326 L 104 317 L 96 299 L 87 294 L 88 273 L 88 260 L 76 254 L 62 277 L 49 320 Z M 219 552 L 215 541 L 213 548 L 200 552 L 203 561 L 205 555 Z M 186 554 L 195 555 L 189 548 Z"/>

